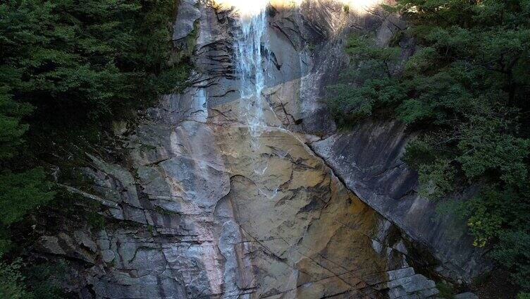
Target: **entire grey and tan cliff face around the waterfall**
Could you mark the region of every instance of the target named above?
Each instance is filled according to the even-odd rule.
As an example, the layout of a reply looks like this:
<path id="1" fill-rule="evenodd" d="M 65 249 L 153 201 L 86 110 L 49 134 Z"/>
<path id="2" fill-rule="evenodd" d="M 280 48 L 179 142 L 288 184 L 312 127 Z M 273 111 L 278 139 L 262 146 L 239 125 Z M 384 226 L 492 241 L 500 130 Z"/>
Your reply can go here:
<path id="1" fill-rule="evenodd" d="M 68 187 L 100 202 L 109 225 L 66 223 L 35 247 L 82 261 L 70 284 L 81 298 L 427 298 L 438 291 L 411 267 L 423 262 L 409 254 L 418 240 L 442 274 L 481 269 L 467 240 L 443 233 L 415 195 L 414 173 L 399 161 L 404 128 L 335 133 L 319 101 L 346 61 L 345 30 L 363 26 L 383 40 L 392 22 L 323 0 L 273 6 L 265 20 L 256 109 L 240 94 L 238 20 L 181 1 L 175 42 L 197 28 L 192 86 L 118 133 L 123 163 L 90 157 L 90 193 Z"/>

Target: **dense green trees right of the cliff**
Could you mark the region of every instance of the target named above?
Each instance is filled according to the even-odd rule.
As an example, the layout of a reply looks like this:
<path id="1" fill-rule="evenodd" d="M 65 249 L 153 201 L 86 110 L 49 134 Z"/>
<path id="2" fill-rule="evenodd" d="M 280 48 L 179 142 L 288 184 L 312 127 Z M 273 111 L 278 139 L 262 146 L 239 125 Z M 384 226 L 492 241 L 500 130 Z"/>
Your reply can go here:
<path id="1" fill-rule="evenodd" d="M 404 157 L 419 192 L 451 198 L 478 186 L 451 210 L 530 290 L 530 1 L 397 0 L 386 9 L 411 26 L 389 47 L 350 39 L 350 71 L 330 87 L 333 113 L 343 124 L 384 116 L 419 130 Z M 417 47 L 403 59 L 411 38 Z"/>

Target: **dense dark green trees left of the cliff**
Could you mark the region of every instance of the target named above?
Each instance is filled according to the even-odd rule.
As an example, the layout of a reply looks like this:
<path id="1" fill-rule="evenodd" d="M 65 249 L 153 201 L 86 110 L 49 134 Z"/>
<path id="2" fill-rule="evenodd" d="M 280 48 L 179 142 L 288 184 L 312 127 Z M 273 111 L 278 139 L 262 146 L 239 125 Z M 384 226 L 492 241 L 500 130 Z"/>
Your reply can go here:
<path id="1" fill-rule="evenodd" d="M 171 41 L 176 5 L 0 2 L 0 255 L 13 250 L 13 228 L 56 193 L 46 155 L 183 87 L 190 63 Z M 17 290 L 17 265 L 0 264 L 2 298 L 29 296 Z"/>

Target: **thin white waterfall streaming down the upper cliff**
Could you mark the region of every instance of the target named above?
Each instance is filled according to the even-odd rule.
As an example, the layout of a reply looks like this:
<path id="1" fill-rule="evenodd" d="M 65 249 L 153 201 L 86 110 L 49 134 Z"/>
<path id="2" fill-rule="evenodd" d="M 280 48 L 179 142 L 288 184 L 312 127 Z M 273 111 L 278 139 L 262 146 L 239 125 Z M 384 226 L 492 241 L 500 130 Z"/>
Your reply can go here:
<path id="1" fill-rule="evenodd" d="M 266 35 L 266 10 L 253 16 L 240 18 L 241 32 L 235 39 L 235 71 L 240 78 L 240 116 L 247 123 L 251 135 L 252 150 L 259 147 L 259 136 L 266 123 L 266 103 L 261 92 L 265 87 L 265 72 L 262 66 L 262 39 Z"/>

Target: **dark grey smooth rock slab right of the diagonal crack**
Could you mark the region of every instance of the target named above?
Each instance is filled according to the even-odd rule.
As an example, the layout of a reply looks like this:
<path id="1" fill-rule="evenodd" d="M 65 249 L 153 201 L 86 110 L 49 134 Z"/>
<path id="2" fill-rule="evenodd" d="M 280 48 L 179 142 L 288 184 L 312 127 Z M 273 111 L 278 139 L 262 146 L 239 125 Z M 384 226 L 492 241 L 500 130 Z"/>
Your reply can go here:
<path id="1" fill-rule="evenodd" d="M 452 215 L 438 215 L 436 202 L 416 192 L 417 173 L 400 161 L 409 140 L 397 122 L 367 121 L 350 133 L 338 133 L 312 144 L 347 188 L 398 225 L 407 236 L 440 260 L 442 276 L 469 281 L 488 268 L 483 251 L 470 246 L 465 224 Z"/>

